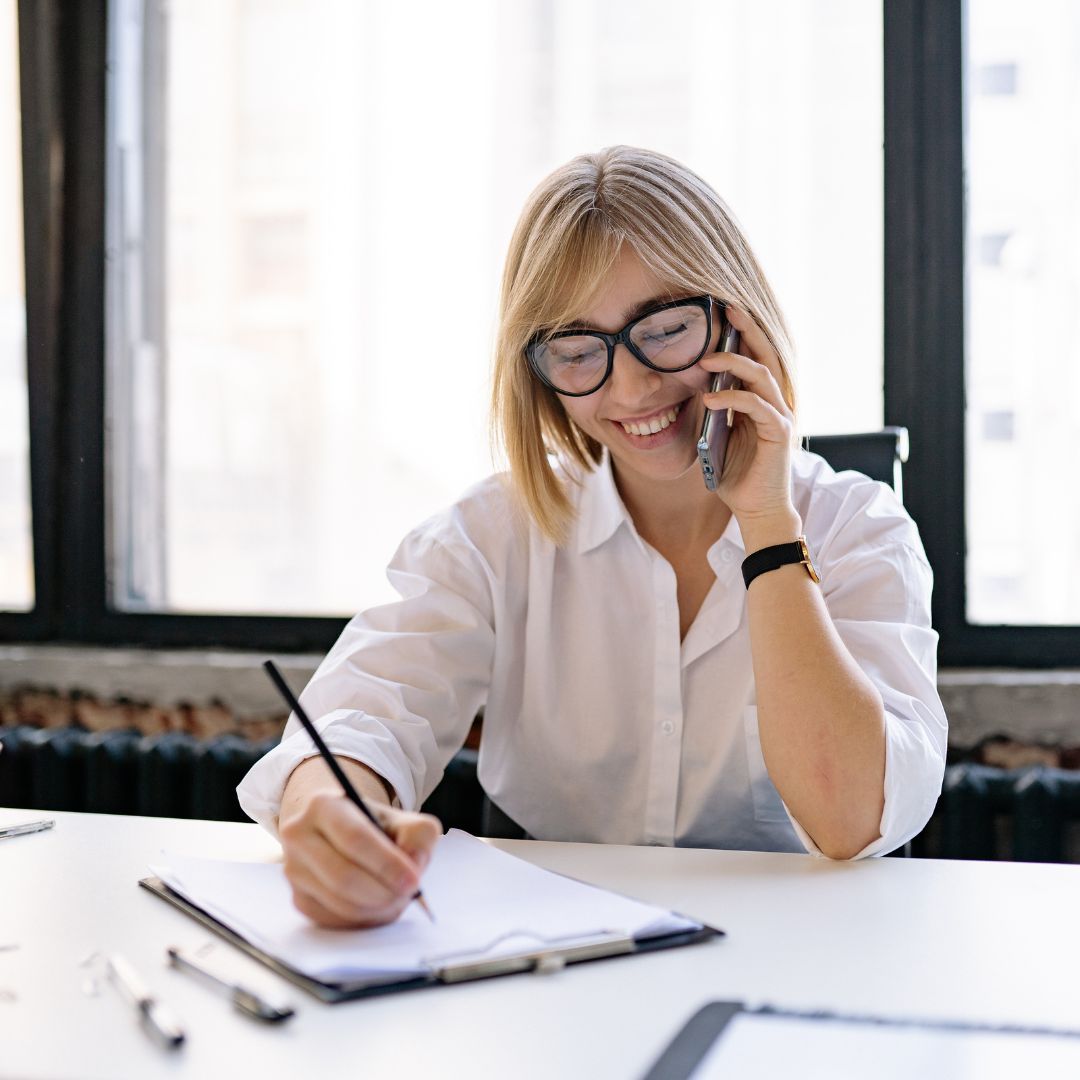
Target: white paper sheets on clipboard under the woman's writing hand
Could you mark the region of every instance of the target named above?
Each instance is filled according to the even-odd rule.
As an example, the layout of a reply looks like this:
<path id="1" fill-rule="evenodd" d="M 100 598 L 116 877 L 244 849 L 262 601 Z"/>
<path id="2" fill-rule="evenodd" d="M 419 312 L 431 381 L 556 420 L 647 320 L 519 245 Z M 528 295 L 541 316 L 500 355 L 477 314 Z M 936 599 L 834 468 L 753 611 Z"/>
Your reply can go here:
<path id="1" fill-rule="evenodd" d="M 552 874 L 451 829 L 423 875 L 429 921 L 413 904 L 373 930 L 323 930 L 293 906 L 278 863 L 163 853 L 166 885 L 262 951 L 323 982 L 424 973 L 454 960 L 504 956 L 612 933 L 696 930 L 700 923 Z"/>

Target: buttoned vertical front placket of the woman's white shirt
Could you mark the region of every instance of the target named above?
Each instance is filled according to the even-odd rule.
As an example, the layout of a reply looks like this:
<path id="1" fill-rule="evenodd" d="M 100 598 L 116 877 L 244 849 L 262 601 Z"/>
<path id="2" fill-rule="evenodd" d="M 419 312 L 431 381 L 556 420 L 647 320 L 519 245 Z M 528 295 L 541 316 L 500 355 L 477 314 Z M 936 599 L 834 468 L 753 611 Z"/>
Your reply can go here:
<path id="1" fill-rule="evenodd" d="M 656 602 L 651 754 L 645 805 L 647 843 L 674 845 L 683 742 L 683 678 L 675 571 L 651 555 Z"/>

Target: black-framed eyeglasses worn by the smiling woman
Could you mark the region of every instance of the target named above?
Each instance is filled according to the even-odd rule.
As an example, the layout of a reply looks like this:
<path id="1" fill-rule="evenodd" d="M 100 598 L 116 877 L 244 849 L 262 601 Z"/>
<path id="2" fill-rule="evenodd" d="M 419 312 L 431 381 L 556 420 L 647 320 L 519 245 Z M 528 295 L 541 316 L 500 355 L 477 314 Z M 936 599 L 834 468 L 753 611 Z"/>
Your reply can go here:
<path id="1" fill-rule="evenodd" d="M 705 355 L 713 337 L 711 296 L 690 296 L 657 305 L 618 334 L 588 327 L 569 327 L 554 334 L 541 332 L 525 347 L 532 374 L 557 394 L 584 397 L 596 393 L 611 377 L 615 348 L 624 345 L 654 372 L 685 372 Z"/>

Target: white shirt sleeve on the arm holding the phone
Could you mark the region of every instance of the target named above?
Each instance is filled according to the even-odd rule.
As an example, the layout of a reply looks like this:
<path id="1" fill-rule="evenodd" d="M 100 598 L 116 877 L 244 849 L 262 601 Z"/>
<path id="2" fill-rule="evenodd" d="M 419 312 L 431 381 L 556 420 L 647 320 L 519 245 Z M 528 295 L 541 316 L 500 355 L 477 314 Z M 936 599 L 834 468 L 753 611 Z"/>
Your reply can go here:
<path id="1" fill-rule="evenodd" d="M 933 573 L 914 523 L 893 492 L 873 481 L 849 490 L 819 563 L 837 633 L 885 706 L 880 835 L 853 858 L 881 855 L 927 824 L 945 774 L 948 725 L 937 693 L 937 633 L 930 624 Z M 807 851 L 821 854 L 794 818 L 792 824 Z"/>

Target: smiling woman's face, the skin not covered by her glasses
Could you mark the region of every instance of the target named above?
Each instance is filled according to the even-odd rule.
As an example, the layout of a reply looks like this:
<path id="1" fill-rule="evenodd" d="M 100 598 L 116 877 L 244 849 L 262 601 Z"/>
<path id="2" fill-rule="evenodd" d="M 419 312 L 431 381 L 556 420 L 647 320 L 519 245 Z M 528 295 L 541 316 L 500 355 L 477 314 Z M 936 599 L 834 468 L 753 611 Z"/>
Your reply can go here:
<path id="1" fill-rule="evenodd" d="M 607 288 L 581 324 L 617 334 L 647 300 L 662 303 L 676 298 L 624 246 Z M 716 348 L 720 328 L 713 319 L 710 351 Z M 611 377 L 585 397 L 559 397 L 573 422 L 606 446 L 616 472 L 647 480 L 672 480 L 697 461 L 697 442 L 704 420 L 702 391 L 710 380 L 700 366 L 684 372 L 654 372 L 640 363 L 624 345 L 615 351 Z M 651 432 L 650 428 L 661 430 Z M 642 434 L 642 432 L 649 432 Z"/>

